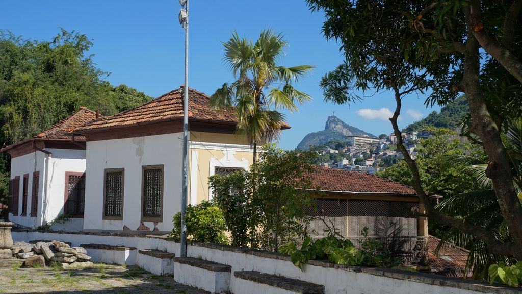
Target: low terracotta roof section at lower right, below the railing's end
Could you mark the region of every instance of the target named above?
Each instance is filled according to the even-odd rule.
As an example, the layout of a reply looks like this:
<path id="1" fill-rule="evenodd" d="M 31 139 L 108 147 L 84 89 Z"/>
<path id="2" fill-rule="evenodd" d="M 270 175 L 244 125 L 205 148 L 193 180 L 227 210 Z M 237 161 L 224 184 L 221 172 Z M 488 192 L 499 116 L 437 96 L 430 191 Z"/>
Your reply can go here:
<path id="1" fill-rule="evenodd" d="M 437 253 L 436 248 L 440 242 L 441 239 L 434 236 L 428 238 L 428 266 L 431 267 L 432 272 L 460 272 L 463 274 L 469 250 L 446 243 Z"/>

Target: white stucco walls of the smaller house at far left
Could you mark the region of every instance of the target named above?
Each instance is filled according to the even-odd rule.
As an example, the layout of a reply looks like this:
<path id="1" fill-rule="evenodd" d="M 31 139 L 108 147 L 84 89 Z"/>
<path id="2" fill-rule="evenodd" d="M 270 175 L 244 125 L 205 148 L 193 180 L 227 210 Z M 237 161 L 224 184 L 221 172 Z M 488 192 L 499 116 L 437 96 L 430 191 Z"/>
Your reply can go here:
<path id="1" fill-rule="evenodd" d="M 9 220 L 25 225 L 37 227 L 43 222 L 50 222 L 63 213 L 65 199 L 65 173 L 85 172 L 85 150 L 74 149 L 46 149 L 52 152 L 52 157 L 40 151 L 11 159 L 11 178 L 20 176 L 20 196 L 18 200 L 18 216 L 9 214 Z M 30 217 L 32 173 L 40 172 L 38 189 L 38 213 L 36 218 Z M 21 217 L 23 175 L 29 174 L 27 216 Z M 54 230 L 80 231 L 83 228 L 83 220 L 71 219 L 65 224 L 56 224 Z"/>

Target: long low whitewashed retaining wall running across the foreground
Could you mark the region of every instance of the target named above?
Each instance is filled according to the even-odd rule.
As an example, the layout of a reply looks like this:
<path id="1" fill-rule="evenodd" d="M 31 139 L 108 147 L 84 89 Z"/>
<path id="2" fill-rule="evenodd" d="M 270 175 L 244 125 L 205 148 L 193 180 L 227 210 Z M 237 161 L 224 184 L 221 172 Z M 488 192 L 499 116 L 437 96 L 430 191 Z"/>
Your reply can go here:
<path id="1" fill-rule="evenodd" d="M 180 254 L 180 244 L 159 236 L 132 236 L 110 233 L 58 233 L 38 231 L 14 231 L 15 241 L 57 240 L 71 242 L 73 246 L 99 243 L 124 245 L 140 249 L 157 249 Z M 137 252 L 135 250 L 134 252 Z M 322 261 L 310 261 L 304 272 L 290 262 L 287 255 L 250 250 L 226 245 L 192 243 L 187 245 L 187 256 L 230 265 L 230 289 L 240 293 L 234 272 L 256 271 L 280 275 L 325 286 L 327 294 L 347 293 L 506 293 L 522 294 L 522 289 L 491 286 L 484 282 L 450 278 L 422 273 L 404 272 L 386 268 L 349 267 Z"/>

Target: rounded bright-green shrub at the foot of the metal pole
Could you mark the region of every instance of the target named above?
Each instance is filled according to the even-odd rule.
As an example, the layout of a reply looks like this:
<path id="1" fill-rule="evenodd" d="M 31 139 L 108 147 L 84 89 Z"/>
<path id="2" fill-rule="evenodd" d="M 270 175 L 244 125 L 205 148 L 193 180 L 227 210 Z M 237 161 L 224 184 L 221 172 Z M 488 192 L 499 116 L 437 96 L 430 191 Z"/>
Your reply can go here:
<path id="1" fill-rule="evenodd" d="M 180 239 L 181 212 L 173 218 L 174 229 L 171 236 Z M 221 210 L 212 202 L 203 201 L 197 205 L 189 205 L 185 211 L 187 238 L 203 243 L 228 244 L 225 234 L 226 225 Z"/>

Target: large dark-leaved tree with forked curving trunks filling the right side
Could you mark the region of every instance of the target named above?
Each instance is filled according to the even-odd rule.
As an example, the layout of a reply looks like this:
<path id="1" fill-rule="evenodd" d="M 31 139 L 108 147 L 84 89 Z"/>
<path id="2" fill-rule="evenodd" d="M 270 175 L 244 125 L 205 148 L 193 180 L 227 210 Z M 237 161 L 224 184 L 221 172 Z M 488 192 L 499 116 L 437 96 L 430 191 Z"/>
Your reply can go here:
<path id="1" fill-rule="evenodd" d="M 397 104 L 390 118 L 397 148 L 411 169 L 412 186 L 428 217 L 477 236 L 493 253 L 522 258 L 522 205 L 513 184 L 511 157 L 517 152 L 503 144 L 501 135 L 522 111 L 522 35 L 516 33 L 520 1 L 307 3 L 312 10 L 325 12 L 323 32 L 341 43 L 346 56 L 345 63 L 323 78 L 326 100 L 346 103 L 361 98 L 353 89 L 391 91 Z M 481 53 L 481 46 L 486 54 Z M 505 243 L 479 224 L 442 213 L 422 190 L 416 162 L 402 144 L 397 118 L 402 99 L 428 91 L 428 105 L 445 105 L 465 94 L 470 115 L 464 134 L 488 155 L 487 176 L 513 242 Z"/>

